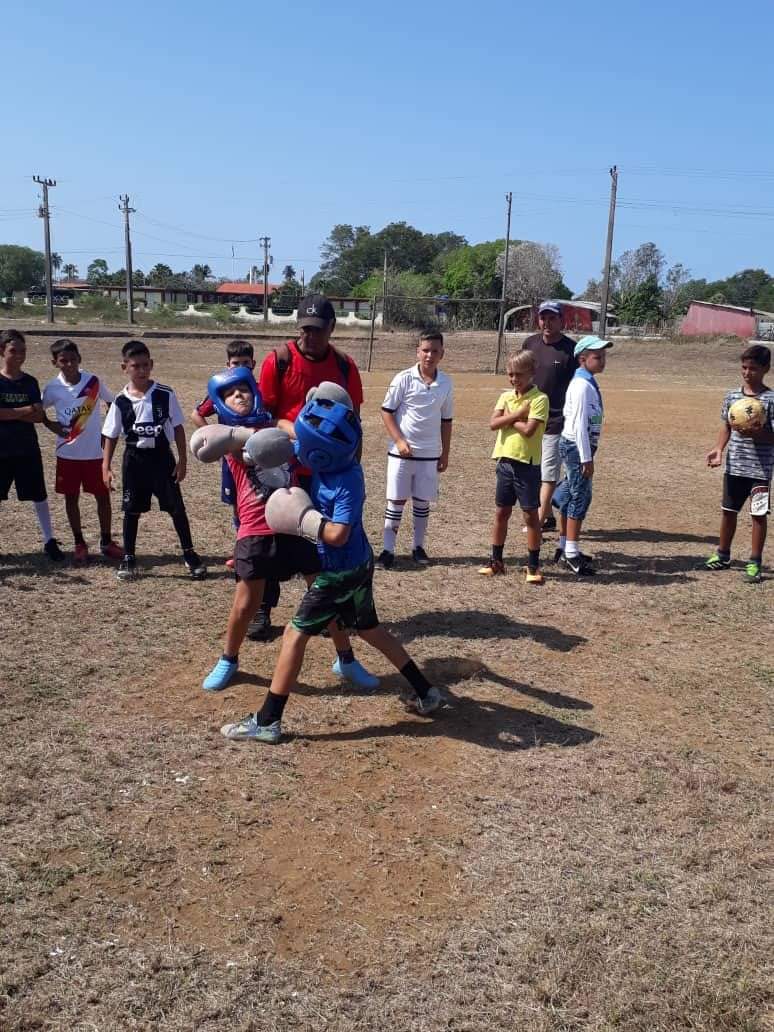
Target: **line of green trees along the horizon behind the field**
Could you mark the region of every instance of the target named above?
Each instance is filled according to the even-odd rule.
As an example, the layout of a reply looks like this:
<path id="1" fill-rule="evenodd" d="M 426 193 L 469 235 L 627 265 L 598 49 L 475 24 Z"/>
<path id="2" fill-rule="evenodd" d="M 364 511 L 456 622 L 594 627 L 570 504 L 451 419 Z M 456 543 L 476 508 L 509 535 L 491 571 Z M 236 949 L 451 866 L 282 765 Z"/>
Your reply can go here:
<path id="1" fill-rule="evenodd" d="M 373 298 L 384 292 L 391 298 L 406 299 L 497 299 L 506 266 L 504 239 L 470 244 L 458 233 L 424 233 L 406 222 L 389 223 L 377 232 L 368 226 L 337 224 L 323 241 L 321 258 L 320 270 L 309 287 L 334 297 Z M 67 279 L 77 277 L 77 266 L 64 264 L 58 254 L 52 256 L 52 264 L 55 272 L 61 269 Z M 86 279 L 96 287 L 123 286 L 126 271 L 110 271 L 104 258 L 95 258 L 87 267 Z M 245 281 L 248 279 L 249 275 Z M 0 245 L 0 294 L 36 287 L 43 281 L 44 259 L 39 251 Z M 137 287 L 215 291 L 223 281 L 203 263 L 173 271 L 159 262 L 148 273 L 135 269 L 133 282 Z M 300 292 L 295 269 L 286 265 L 272 303 L 292 308 Z M 601 292 L 601 278 L 591 279 L 577 296 L 599 301 Z M 512 240 L 508 303 L 534 304 L 546 297 L 573 297 L 562 279 L 558 249 L 551 244 Z M 774 278 L 764 269 L 744 269 L 724 280 L 694 279 L 681 263 L 668 265 L 652 241 L 624 251 L 612 264 L 609 303 L 622 323 L 672 321 L 687 311 L 691 300 L 774 311 Z M 482 314 L 484 311 L 489 318 L 491 304 L 482 307 Z"/>

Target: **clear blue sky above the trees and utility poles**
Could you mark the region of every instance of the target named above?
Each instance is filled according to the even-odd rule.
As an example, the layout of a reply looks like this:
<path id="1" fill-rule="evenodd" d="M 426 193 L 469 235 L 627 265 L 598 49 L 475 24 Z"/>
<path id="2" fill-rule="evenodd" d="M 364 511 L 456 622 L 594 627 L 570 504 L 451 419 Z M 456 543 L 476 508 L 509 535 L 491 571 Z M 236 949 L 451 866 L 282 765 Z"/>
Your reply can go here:
<path id="1" fill-rule="evenodd" d="M 271 237 L 304 269 L 340 222 L 406 220 L 471 243 L 555 244 L 581 290 L 654 240 L 695 276 L 774 273 L 774 6 L 51 0 L 3 14 L 0 243 L 41 247 L 35 173 L 54 178 L 53 246 L 82 273 L 207 262 L 244 275 Z M 247 241 L 247 243 L 244 243 Z M 253 243 L 251 243 L 253 241 Z M 232 263 L 232 244 L 237 260 Z"/>

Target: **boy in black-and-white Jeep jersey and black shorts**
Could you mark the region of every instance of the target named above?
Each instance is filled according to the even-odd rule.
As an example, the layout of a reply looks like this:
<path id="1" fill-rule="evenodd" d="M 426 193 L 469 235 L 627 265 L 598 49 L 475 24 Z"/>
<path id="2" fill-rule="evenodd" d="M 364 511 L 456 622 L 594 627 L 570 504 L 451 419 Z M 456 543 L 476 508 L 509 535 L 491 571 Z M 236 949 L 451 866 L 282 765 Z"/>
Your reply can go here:
<path id="1" fill-rule="evenodd" d="M 135 547 L 139 517 L 150 510 L 151 498 L 155 496 L 159 509 L 172 518 L 186 569 L 194 580 L 201 580 L 206 576 L 206 567 L 194 551 L 180 489 L 188 458 L 183 413 L 171 387 L 151 379 L 153 359 L 141 341 L 129 341 L 121 353 L 121 368 L 129 376 L 129 383 L 116 396 L 102 427 L 105 439 L 102 478 L 109 490 L 114 483 L 110 462 L 116 445 L 122 433 L 126 439 L 122 467 L 124 558 L 118 578 L 133 580 L 137 576 Z M 172 441 L 178 449 L 176 461 Z"/>

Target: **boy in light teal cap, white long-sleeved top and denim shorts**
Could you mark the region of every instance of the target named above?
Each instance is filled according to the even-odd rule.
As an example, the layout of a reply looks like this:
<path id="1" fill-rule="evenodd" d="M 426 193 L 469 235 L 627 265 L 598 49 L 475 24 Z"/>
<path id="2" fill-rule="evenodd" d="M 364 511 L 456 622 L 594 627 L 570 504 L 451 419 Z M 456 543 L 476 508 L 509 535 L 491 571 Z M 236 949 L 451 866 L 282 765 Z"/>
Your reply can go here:
<path id="1" fill-rule="evenodd" d="M 575 346 L 578 368 L 565 398 L 565 425 L 559 439 L 559 455 L 567 477 L 556 488 L 553 506 L 559 511 L 559 541 L 556 561 L 563 562 L 576 577 L 593 575 L 591 559 L 580 550 L 583 520 L 591 505 L 594 453 L 600 444 L 604 407 L 596 377 L 605 369 L 605 352 L 613 345 L 599 336 L 583 336 Z"/>

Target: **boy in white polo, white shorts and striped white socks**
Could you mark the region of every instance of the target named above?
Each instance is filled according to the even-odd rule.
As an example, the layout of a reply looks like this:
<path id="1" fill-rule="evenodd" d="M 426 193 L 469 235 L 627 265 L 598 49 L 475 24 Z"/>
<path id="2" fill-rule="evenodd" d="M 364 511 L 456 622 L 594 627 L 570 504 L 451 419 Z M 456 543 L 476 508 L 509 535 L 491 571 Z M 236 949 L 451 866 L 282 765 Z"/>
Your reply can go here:
<path id="1" fill-rule="evenodd" d="M 410 497 L 414 516 L 412 559 L 420 566 L 430 561 L 424 539 L 430 503 L 438 498 L 438 475 L 449 465 L 454 406 L 451 379 L 439 368 L 443 357 L 443 334 L 438 330 L 422 333 L 416 365 L 393 377 L 382 405 L 382 419 L 391 438 L 384 549 L 377 559 L 385 570 L 395 561 L 395 540 Z"/>

